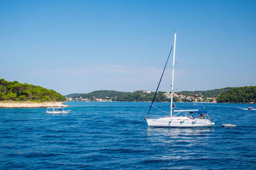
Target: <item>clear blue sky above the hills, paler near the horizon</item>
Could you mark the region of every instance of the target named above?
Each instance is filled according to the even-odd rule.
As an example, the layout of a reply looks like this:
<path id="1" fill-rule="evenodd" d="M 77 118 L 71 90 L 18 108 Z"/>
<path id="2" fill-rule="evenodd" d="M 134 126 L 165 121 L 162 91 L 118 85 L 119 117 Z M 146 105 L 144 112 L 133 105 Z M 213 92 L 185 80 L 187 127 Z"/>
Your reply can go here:
<path id="1" fill-rule="evenodd" d="M 0 1 L 0 78 L 63 95 L 256 85 L 256 1 Z M 170 91 L 171 63 L 161 89 Z"/>

